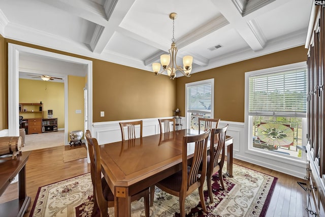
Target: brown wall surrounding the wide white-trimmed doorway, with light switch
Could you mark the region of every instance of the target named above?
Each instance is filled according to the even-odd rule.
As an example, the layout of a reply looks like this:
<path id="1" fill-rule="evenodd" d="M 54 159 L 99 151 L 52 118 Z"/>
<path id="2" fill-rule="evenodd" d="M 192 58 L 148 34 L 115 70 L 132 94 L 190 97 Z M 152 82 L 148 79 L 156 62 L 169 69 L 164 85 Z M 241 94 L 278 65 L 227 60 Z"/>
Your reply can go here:
<path id="1" fill-rule="evenodd" d="M 0 46 L 0 59 L 7 59 L 8 43 L 92 60 L 93 122 L 172 116 L 176 108 L 176 82 L 167 76 L 154 76 L 151 72 L 10 39 L 4 39 L 4 49 Z M 7 60 L 5 66 L 7 77 Z M 5 108 L 8 104 L 7 80 L 1 80 L 0 85 L 6 90 Z M 100 111 L 105 111 L 105 117 L 100 117 Z M 0 126 L 8 128 L 7 109 L 0 116 L 5 116 L 0 120 Z"/>

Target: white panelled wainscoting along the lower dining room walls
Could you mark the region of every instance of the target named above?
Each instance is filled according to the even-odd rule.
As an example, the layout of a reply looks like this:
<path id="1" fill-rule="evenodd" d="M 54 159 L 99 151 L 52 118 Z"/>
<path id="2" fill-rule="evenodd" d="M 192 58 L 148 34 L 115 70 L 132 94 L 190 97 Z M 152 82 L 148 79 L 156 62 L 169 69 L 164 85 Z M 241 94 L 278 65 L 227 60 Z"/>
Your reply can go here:
<path id="1" fill-rule="evenodd" d="M 171 117 L 161 117 L 171 118 Z M 158 118 L 147 118 L 143 120 L 143 136 L 149 136 L 159 133 Z M 135 120 L 122 120 L 135 121 Z M 121 141 L 121 130 L 119 126 L 121 121 L 95 122 L 90 129 L 93 137 L 99 144 L 106 144 L 116 141 Z M 182 117 L 182 128 L 186 128 L 186 118 Z M 219 122 L 219 127 L 229 125 L 227 135 L 234 138 L 233 152 L 234 158 L 250 162 L 262 167 L 276 170 L 288 175 L 304 178 L 306 176 L 306 163 L 292 161 L 279 155 L 267 155 L 263 151 L 252 151 L 248 149 L 248 136 L 245 135 L 245 124 L 243 122 L 222 121 Z M 226 151 L 226 150 L 225 150 Z"/>

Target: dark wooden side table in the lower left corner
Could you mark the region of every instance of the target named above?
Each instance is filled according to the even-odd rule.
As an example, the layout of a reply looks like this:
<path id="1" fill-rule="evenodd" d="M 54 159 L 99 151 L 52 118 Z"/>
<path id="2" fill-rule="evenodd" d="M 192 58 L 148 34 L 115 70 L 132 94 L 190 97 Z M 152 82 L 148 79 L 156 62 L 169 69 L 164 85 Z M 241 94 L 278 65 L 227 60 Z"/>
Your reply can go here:
<path id="1" fill-rule="evenodd" d="M 22 152 L 16 160 L 1 160 L 0 158 L 0 196 L 5 192 L 10 181 L 17 174 L 19 177 L 19 197 L 18 199 L 0 204 L 2 214 L 7 217 L 23 216 L 30 203 L 30 197 L 26 195 L 26 169 L 30 151 Z"/>

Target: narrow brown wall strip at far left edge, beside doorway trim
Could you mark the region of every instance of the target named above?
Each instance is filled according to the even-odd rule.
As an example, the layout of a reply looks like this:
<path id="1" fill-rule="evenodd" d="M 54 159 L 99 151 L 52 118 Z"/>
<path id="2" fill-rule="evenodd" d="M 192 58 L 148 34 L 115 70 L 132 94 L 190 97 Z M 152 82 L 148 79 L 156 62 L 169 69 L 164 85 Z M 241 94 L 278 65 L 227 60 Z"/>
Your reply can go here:
<path id="1" fill-rule="evenodd" d="M 8 129 L 8 73 L 5 39 L 0 35 L 0 130 Z"/>

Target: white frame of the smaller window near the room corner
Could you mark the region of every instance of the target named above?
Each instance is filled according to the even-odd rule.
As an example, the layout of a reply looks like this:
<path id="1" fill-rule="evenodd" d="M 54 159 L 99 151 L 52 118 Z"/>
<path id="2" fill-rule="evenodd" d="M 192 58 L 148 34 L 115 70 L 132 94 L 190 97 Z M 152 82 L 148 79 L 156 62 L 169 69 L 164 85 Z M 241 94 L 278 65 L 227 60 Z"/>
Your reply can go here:
<path id="1" fill-rule="evenodd" d="M 201 80 L 201 81 L 194 81 L 190 83 L 185 84 L 185 119 L 186 119 L 186 128 L 190 128 L 190 116 L 188 115 L 188 108 L 187 108 L 187 88 L 192 86 L 198 86 L 202 84 L 211 84 L 211 112 L 210 116 L 211 118 L 214 117 L 214 78 Z"/>

